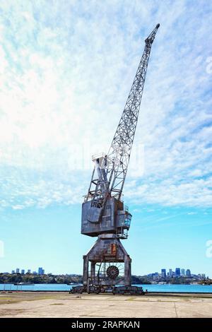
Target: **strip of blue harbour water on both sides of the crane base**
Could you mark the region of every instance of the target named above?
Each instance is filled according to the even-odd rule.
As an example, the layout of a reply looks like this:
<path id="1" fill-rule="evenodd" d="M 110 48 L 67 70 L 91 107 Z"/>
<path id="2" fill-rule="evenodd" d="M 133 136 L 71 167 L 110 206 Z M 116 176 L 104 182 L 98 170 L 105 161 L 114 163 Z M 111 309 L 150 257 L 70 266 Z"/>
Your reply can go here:
<path id="1" fill-rule="evenodd" d="M 148 292 L 206 292 L 212 293 L 212 285 L 138 285 L 142 286 L 143 290 Z M 0 284 L 0 290 L 17 291 L 17 290 L 30 290 L 30 291 L 69 291 L 71 285 L 66 284 L 35 284 L 35 285 L 13 285 L 13 284 Z"/>

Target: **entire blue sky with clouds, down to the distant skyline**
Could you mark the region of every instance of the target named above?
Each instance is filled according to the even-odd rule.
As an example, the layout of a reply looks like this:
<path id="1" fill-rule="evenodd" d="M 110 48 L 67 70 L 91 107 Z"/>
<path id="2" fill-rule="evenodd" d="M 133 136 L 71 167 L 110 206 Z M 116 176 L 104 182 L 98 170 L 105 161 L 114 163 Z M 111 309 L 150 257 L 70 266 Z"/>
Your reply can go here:
<path id="1" fill-rule="evenodd" d="M 212 278 L 211 1 L 1 1 L 0 271 L 81 273 L 91 155 L 160 23 L 124 186 L 132 272 Z M 4 251 L 2 250 L 4 247 Z"/>

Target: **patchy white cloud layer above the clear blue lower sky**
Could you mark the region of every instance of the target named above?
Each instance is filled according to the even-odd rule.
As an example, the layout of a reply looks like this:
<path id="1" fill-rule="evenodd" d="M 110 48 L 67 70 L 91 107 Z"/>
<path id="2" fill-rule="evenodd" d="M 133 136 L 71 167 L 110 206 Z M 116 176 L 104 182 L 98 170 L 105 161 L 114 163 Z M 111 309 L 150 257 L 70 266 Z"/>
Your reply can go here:
<path id="1" fill-rule="evenodd" d="M 3 1 L 1 8 L 1 206 L 82 200 L 90 157 L 109 148 L 143 40 L 158 22 L 124 198 L 211 206 L 208 1 Z"/>

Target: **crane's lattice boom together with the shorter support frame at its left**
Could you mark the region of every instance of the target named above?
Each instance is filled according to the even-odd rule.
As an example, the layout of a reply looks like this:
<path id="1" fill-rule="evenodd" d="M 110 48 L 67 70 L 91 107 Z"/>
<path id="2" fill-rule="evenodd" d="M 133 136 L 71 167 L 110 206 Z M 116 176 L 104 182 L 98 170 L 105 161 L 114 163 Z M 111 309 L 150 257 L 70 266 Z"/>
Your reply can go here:
<path id="1" fill-rule="evenodd" d="M 117 200 L 120 200 L 122 196 L 131 147 L 134 142 L 139 117 L 151 47 L 159 26 L 159 24 L 156 25 L 155 29 L 145 40 L 145 47 L 139 68 L 136 71 L 136 76 L 126 100 L 122 117 L 117 126 L 117 131 L 114 134 L 109 153 L 107 155 L 93 156 L 95 167 L 85 200 L 91 200 L 90 213 L 88 213 L 90 221 L 92 221 L 91 219 L 93 221 L 100 220 L 108 197 L 113 196 Z"/>

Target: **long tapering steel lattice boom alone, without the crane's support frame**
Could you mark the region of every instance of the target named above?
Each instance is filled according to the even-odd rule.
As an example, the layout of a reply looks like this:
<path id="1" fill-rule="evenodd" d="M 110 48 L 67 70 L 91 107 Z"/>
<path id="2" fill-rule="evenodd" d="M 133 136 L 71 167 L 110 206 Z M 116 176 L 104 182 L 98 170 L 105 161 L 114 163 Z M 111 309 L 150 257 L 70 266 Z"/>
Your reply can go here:
<path id="1" fill-rule="evenodd" d="M 110 151 L 107 155 L 109 160 L 114 161 L 112 167 L 112 172 L 114 172 L 114 174 L 110 185 L 110 193 L 114 194 L 118 199 L 121 198 L 124 180 L 126 178 L 131 147 L 134 141 L 136 125 L 139 117 L 148 60 L 151 54 L 151 46 L 158 28 L 159 25 L 155 27 L 153 32 L 151 32 L 151 35 L 145 40 L 145 48 L 139 68 L 136 71 L 134 83 L 131 86 L 129 97 L 126 100 L 122 117 L 117 126 L 117 131 L 114 134 Z"/>

